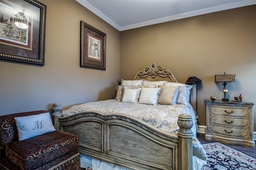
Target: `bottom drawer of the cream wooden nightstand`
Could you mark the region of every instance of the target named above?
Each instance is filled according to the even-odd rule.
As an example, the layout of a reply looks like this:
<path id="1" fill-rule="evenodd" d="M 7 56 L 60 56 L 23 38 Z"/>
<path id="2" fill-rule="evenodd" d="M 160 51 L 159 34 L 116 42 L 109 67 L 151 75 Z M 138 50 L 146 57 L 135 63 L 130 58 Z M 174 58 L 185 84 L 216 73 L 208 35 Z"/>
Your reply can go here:
<path id="1" fill-rule="evenodd" d="M 248 135 L 247 129 L 235 129 L 235 128 L 228 128 L 228 127 L 219 127 L 219 126 L 212 126 L 211 131 L 213 133 L 220 133 L 222 135 L 231 135 L 231 136 L 240 136 L 246 137 Z"/>

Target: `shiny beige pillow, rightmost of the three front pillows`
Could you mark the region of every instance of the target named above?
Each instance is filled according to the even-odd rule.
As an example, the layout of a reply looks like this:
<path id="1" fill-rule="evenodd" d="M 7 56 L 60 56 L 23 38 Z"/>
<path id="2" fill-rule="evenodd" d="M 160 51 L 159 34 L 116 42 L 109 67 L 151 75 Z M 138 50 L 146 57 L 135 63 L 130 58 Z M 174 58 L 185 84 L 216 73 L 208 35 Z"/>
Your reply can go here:
<path id="1" fill-rule="evenodd" d="M 158 86 L 162 88 L 159 96 L 159 104 L 176 105 L 180 87 Z"/>

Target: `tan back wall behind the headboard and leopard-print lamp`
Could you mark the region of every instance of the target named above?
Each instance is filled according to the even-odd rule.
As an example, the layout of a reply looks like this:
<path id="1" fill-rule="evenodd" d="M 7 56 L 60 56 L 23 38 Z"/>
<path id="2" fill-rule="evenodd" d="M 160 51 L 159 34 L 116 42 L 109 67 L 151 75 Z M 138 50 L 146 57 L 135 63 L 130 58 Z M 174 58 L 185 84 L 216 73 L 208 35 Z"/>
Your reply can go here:
<path id="1" fill-rule="evenodd" d="M 122 31 L 120 78 L 133 79 L 152 62 L 172 70 L 179 82 L 200 78 L 198 124 L 206 125 L 204 99 L 224 97 L 216 74 L 236 74 L 236 82 L 228 83 L 229 99 L 242 93 L 256 102 L 255 17 L 256 5 Z"/>

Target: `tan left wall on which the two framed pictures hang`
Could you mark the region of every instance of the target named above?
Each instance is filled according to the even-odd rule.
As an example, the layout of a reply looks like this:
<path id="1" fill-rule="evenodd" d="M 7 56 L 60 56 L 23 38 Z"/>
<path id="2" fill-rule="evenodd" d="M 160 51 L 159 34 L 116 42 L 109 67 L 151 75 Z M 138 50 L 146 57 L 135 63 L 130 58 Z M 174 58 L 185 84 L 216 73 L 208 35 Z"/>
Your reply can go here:
<path id="1" fill-rule="evenodd" d="M 74 0 L 39 1 L 47 6 L 45 65 L 0 61 L 0 114 L 112 98 L 120 78 L 120 32 Z M 81 20 L 106 33 L 106 71 L 80 68 Z"/>

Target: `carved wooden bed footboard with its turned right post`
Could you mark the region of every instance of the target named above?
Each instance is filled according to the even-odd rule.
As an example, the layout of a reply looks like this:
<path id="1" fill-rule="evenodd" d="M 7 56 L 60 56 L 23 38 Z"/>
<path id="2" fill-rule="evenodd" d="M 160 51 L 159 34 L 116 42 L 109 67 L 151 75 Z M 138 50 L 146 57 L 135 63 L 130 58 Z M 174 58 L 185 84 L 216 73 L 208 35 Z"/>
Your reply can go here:
<path id="1" fill-rule="evenodd" d="M 192 170 L 192 117 L 178 118 L 178 136 L 128 115 L 78 113 L 59 127 L 80 137 L 80 153 L 130 169 Z"/>

